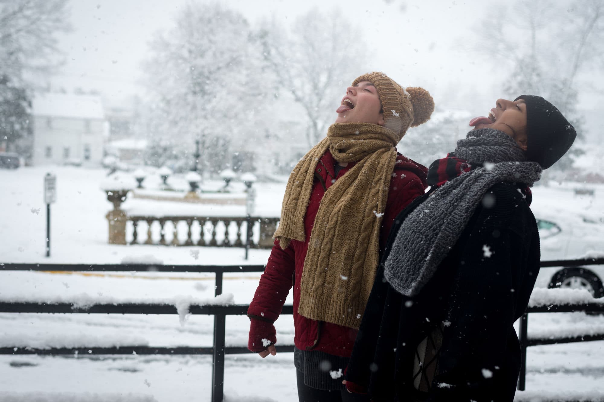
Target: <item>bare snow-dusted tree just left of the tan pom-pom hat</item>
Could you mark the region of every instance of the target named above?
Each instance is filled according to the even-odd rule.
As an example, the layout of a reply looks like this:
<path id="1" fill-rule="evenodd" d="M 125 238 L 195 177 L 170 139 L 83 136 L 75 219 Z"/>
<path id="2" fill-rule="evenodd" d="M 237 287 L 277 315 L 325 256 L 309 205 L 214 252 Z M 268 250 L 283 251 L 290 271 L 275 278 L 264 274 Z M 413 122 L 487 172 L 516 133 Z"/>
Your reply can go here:
<path id="1" fill-rule="evenodd" d="M 281 102 L 293 101 L 304 113 L 309 147 L 326 135 L 344 89 L 366 72 L 361 68 L 367 48 L 352 26 L 341 13 L 316 9 L 289 30 L 274 21 L 264 24 L 263 55 L 285 92 Z"/>

